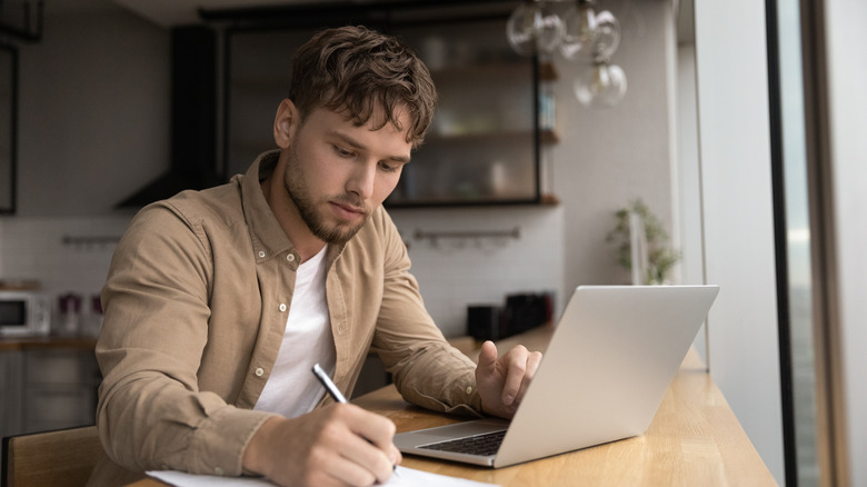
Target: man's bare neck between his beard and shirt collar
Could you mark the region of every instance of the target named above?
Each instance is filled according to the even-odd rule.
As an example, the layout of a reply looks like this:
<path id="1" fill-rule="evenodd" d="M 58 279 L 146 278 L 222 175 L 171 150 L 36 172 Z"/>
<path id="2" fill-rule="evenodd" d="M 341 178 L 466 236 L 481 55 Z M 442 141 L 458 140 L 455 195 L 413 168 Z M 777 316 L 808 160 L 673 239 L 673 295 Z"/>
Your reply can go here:
<path id="1" fill-rule="evenodd" d="M 273 172 L 261 182 L 262 193 L 271 212 L 277 218 L 283 233 L 292 242 L 295 250 L 301 256 L 301 261 L 312 258 L 326 246 L 326 242 L 316 237 L 298 212 L 298 208 L 286 190 L 286 160 L 283 153 L 273 169 Z"/>

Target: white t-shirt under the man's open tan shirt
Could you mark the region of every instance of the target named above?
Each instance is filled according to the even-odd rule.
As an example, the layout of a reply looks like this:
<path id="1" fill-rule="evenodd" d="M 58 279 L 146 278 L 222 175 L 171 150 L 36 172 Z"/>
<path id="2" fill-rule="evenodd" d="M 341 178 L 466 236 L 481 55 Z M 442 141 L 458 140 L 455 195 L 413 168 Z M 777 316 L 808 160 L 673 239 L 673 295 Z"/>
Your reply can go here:
<path id="1" fill-rule="evenodd" d="M 311 371 L 313 364 L 335 374 L 337 354 L 325 284 L 327 248 L 298 266 L 283 341 L 256 410 L 287 418 L 310 413 L 326 392 Z"/>

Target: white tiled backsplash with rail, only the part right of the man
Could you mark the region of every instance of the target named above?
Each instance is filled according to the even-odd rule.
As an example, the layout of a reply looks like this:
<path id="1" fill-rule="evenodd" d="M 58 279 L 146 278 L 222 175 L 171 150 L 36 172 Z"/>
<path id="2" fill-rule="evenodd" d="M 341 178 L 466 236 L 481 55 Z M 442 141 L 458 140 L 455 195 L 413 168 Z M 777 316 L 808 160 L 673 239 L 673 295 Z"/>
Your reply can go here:
<path id="1" fill-rule="evenodd" d="M 507 294 L 555 292 L 564 297 L 564 237 L 560 207 L 391 210 L 409 244 L 412 274 L 428 311 L 447 337 L 466 334 L 467 305 L 501 305 Z M 519 238 L 429 239 L 416 231 L 511 231 Z"/>

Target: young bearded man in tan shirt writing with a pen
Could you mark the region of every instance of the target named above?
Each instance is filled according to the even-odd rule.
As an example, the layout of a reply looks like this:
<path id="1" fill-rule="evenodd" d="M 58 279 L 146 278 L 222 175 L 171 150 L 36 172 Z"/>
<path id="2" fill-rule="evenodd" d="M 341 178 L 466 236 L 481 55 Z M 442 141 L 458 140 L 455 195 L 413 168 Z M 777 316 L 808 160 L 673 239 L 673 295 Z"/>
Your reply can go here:
<path id="1" fill-rule="evenodd" d="M 400 453 L 388 419 L 347 394 L 368 349 L 409 401 L 510 417 L 540 360 L 524 347 L 476 367 L 425 311 L 381 208 L 421 143 L 436 91 L 393 38 L 326 30 L 295 56 L 279 150 L 243 176 L 144 208 L 102 292 L 98 426 L 111 458 L 91 485 L 148 469 L 371 485 Z"/>

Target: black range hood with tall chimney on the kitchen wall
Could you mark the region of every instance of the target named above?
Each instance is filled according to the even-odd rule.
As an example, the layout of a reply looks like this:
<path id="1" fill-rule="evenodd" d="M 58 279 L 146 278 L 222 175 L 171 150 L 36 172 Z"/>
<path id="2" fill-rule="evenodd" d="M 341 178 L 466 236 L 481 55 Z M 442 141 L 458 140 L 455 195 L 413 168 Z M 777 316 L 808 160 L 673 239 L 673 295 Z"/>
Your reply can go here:
<path id="1" fill-rule="evenodd" d="M 203 26 L 171 30 L 171 165 L 116 208 L 140 208 L 185 189 L 223 182 L 217 170 L 217 36 Z"/>

